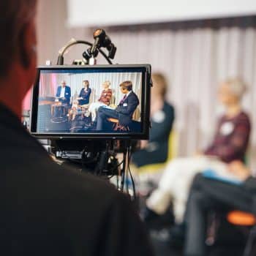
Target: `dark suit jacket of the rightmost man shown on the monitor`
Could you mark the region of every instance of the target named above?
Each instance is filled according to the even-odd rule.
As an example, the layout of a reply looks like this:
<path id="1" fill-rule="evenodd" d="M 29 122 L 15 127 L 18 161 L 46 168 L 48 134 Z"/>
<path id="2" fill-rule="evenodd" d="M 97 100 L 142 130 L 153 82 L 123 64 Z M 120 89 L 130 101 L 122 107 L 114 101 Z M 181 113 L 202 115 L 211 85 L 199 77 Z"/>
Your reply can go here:
<path id="1" fill-rule="evenodd" d="M 121 125 L 129 125 L 132 122 L 132 115 L 135 109 L 139 105 L 139 99 L 137 95 L 131 91 L 130 94 L 120 102 L 116 111 L 118 112 L 118 121 Z"/>

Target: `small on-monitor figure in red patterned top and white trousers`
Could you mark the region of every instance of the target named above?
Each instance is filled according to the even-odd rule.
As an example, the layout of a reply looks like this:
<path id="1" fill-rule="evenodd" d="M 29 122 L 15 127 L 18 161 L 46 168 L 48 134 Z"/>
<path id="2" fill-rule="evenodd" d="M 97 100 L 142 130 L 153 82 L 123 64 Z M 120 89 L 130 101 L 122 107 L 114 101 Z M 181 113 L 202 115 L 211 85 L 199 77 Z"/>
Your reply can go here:
<path id="1" fill-rule="evenodd" d="M 102 94 L 100 94 L 100 97 L 97 102 L 93 102 L 89 106 L 89 112 L 91 113 L 92 122 L 96 120 L 97 110 L 99 109 L 99 107 L 110 105 L 110 100 L 112 97 L 112 90 L 109 88 L 110 84 L 110 81 L 105 81 L 104 83 L 102 83 Z"/>

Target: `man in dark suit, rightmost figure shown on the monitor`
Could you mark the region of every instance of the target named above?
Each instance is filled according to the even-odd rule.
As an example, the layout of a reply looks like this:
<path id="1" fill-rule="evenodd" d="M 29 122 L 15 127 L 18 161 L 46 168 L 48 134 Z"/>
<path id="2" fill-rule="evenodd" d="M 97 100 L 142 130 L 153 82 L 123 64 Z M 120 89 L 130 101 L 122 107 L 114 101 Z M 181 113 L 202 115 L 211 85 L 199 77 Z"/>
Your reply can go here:
<path id="1" fill-rule="evenodd" d="M 116 109 L 110 107 L 100 107 L 97 114 L 97 131 L 109 129 L 110 122 L 108 118 L 116 118 L 120 125 L 129 127 L 132 122 L 132 115 L 139 105 L 138 96 L 132 91 L 132 82 L 124 81 L 120 85 L 123 99 L 119 102 Z"/>

